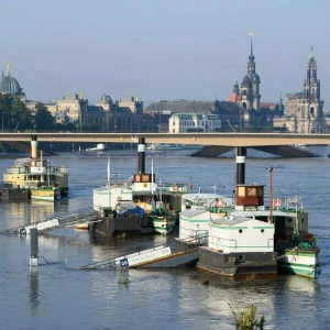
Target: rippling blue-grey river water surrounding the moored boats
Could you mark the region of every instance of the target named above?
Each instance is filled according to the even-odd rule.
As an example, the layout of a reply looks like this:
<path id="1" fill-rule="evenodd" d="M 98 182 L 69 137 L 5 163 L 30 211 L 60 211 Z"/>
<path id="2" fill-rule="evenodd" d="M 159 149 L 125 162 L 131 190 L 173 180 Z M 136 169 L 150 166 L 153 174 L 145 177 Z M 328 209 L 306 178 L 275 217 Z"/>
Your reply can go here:
<path id="1" fill-rule="evenodd" d="M 112 180 L 136 170 L 136 151 L 123 148 L 110 156 Z M 234 158 L 160 153 L 146 156 L 146 172 L 151 172 L 152 158 L 157 182 L 188 184 L 191 178 L 194 190 L 232 194 Z M 13 161 L 1 160 L 0 172 Z M 69 169 L 69 197 L 55 205 L 0 201 L 0 231 L 91 206 L 92 189 L 107 183 L 107 156 L 67 154 L 53 161 Z M 265 316 L 265 329 L 329 329 L 330 160 L 248 158 L 246 183 L 268 187 L 272 166 L 274 197 L 300 196 L 309 210 L 309 229 L 319 235 L 321 248 L 319 278 L 276 276 L 248 282 L 195 268 L 129 270 L 124 275 L 79 271 L 94 261 L 158 245 L 174 235 L 98 239 L 74 228 L 41 235 L 44 258 L 37 271 L 31 271 L 29 237 L 0 235 L 0 329 L 234 329 L 229 304 L 240 310 L 257 305 L 256 316 Z M 128 276 L 127 285 L 120 284 L 122 276 Z"/>

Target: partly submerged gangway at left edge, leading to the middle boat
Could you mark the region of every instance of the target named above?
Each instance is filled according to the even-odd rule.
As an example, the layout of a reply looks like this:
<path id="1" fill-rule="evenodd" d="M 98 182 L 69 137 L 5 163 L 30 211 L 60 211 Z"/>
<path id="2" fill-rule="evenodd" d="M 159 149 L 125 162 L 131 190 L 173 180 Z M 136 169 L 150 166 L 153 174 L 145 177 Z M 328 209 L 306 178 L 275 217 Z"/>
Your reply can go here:
<path id="1" fill-rule="evenodd" d="M 100 220 L 98 220 L 97 217 L 92 215 L 92 208 L 89 207 L 89 208 L 84 208 L 61 216 L 46 217 L 43 220 L 33 223 L 22 224 L 15 228 L 2 230 L 0 231 L 0 234 L 2 235 L 22 234 L 22 233 L 29 234 L 31 228 L 36 228 L 38 232 L 42 233 L 58 228 L 74 226 L 76 223 L 89 223 L 96 221 L 100 221 Z"/>

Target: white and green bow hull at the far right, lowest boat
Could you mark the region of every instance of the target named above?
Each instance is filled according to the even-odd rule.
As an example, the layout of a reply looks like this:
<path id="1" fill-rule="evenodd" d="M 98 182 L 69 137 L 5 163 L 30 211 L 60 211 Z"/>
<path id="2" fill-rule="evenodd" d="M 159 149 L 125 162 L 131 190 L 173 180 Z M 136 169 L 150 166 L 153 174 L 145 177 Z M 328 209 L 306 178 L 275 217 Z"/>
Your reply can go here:
<path id="1" fill-rule="evenodd" d="M 278 272 L 315 278 L 320 274 L 318 251 L 287 250 L 278 258 Z"/>

